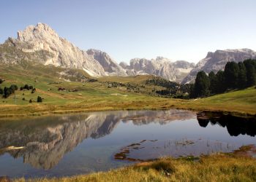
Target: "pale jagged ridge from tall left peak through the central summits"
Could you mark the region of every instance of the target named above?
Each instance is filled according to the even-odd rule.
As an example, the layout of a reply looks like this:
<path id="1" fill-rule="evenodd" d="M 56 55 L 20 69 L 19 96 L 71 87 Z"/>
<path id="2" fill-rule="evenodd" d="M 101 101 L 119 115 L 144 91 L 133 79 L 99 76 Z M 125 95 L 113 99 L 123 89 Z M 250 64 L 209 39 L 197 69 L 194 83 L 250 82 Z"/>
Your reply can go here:
<path id="1" fill-rule="evenodd" d="M 56 31 L 45 23 L 29 25 L 25 30 L 18 31 L 17 39 L 9 38 L 0 46 L 3 47 L 0 47 L 0 62 L 7 64 L 34 60 L 44 65 L 78 68 L 96 77 L 154 74 L 171 81 L 181 81 L 180 77 L 184 76 L 184 70 L 178 70 L 175 64 L 162 57 L 155 60 L 140 59 L 143 64 L 146 63 L 143 68 L 135 68 L 136 59 L 132 59 L 131 65 L 123 68 L 122 63 L 116 63 L 106 52 L 80 50 L 71 42 L 59 37 Z"/>

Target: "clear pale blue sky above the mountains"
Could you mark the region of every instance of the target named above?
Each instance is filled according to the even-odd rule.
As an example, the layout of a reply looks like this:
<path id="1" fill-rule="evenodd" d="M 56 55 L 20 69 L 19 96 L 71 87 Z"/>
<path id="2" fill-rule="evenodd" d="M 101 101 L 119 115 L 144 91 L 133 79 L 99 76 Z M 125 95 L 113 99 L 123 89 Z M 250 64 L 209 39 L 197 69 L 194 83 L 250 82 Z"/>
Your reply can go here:
<path id="1" fill-rule="evenodd" d="M 1 0 L 0 43 L 46 23 L 82 50 L 187 60 L 207 52 L 256 50 L 255 0 Z"/>

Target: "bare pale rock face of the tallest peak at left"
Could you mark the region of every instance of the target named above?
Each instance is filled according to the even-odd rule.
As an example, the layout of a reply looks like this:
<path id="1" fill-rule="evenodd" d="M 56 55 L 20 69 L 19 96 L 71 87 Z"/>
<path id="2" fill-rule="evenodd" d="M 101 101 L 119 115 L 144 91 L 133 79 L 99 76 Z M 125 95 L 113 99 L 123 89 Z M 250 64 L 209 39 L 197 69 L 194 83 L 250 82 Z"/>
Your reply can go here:
<path id="1" fill-rule="evenodd" d="M 45 65 L 78 68 L 89 71 L 92 76 L 105 76 L 105 71 L 93 56 L 75 47 L 66 39 L 58 36 L 48 25 L 38 23 L 30 25 L 24 31 L 18 31 L 18 39 L 10 39 L 22 52 L 47 52 L 42 60 Z"/>

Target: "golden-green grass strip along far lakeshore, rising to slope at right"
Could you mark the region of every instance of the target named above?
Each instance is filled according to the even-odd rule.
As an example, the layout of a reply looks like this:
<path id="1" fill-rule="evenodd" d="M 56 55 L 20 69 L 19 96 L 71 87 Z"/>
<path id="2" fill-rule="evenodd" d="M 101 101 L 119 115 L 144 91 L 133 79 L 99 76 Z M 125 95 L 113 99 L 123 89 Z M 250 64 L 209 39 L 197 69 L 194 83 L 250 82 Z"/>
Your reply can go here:
<path id="1" fill-rule="evenodd" d="M 31 103 L 27 105 L 0 104 L 1 118 L 20 116 L 42 116 L 50 114 L 68 114 L 89 111 L 113 110 L 165 110 L 170 108 L 192 111 L 224 112 L 238 116 L 256 116 L 256 89 L 227 92 L 208 98 L 181 100 L 135 95 L 132 98 L 122 96 L 95 97 L 91 100 L 79 100 L 77 103 Z"/>

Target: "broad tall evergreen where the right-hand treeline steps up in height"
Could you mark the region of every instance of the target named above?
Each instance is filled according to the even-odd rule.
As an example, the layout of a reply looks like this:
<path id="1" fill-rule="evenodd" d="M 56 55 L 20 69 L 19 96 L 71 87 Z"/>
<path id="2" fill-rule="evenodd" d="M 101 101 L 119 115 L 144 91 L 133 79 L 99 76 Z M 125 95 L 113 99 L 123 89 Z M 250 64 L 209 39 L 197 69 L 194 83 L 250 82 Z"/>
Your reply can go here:
<path id="1" fill-rule="evenodd" d="M 238 73 L 239 66 L 238 63 L 232 61 L 227 62 L 225 66 L 225 85 L 227 88 L 237 88 L 238 87 Z"/>

